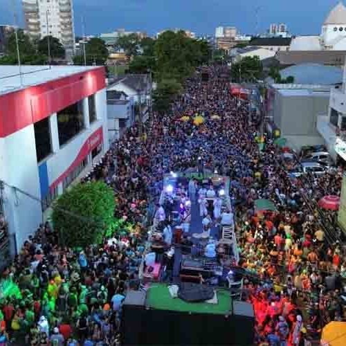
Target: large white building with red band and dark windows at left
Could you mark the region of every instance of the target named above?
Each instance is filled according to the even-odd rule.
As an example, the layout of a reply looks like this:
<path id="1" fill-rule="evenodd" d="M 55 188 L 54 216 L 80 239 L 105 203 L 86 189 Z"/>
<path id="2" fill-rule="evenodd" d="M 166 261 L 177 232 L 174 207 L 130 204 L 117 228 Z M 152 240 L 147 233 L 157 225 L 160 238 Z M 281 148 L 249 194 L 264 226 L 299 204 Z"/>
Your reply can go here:
<path id="1" fill-rule="evenodd" d="M 108 149 L 103 67 L 21 66 L 21 71 L 0 66 L 1 197 L 18 249 L 53 199 Z"/>

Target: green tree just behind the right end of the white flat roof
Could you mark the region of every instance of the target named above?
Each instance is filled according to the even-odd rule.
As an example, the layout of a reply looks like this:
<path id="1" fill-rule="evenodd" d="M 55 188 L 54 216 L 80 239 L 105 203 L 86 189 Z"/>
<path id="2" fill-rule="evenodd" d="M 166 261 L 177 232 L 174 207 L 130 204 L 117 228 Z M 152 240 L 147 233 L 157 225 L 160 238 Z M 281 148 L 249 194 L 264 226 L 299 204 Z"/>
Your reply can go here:
<path id="1" fill-rule="evenodd" d="M 104 65 L 109 53 L 104 41 L 98 37 L 93 37 L 85 44 L 85 55 L 87 65 Z M 73 62 L 75 65 L 84 65 L 83 54 L 75 55 Z"/>

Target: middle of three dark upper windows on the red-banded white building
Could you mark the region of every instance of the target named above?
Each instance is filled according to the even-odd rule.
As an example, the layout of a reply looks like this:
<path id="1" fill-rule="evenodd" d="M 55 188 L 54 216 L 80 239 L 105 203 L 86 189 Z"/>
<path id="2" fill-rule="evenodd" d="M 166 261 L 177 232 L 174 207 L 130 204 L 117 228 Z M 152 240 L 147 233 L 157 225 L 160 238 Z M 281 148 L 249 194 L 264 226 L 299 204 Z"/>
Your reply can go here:
<path id="1" fill-rule="evenodd" d="M 59 143 L 64 145 L 84 128 L 83 102 L 78 101 L 57 112 Z"/>

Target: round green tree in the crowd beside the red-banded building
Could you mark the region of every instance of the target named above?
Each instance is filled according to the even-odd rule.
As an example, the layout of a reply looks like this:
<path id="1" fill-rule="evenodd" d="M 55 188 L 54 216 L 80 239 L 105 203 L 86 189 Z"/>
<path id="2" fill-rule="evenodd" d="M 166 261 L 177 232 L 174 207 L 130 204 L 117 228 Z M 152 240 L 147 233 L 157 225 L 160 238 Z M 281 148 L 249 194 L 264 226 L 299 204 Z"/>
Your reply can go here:
<path id="1" fill-rule="evenodd" d="M 113 190 L 100 181 L 80 183 L 53 203 L 53 226 L 67 246 L 100 244 L 113 225 Z"/>

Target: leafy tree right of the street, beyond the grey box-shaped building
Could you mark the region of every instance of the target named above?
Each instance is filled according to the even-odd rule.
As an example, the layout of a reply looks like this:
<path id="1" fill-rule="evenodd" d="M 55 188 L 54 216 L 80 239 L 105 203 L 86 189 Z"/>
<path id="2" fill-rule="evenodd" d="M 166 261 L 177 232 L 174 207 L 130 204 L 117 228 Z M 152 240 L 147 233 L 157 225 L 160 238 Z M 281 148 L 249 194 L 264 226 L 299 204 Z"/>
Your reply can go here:
<path id="1" fill-rule="evenodd" d="M 263 66 L 260 57 L 244 57 L 240 62 L 233 64 L 230 73 L 235 82 L 257 80 L 262 77 Z"/>

